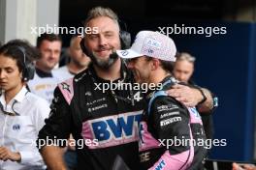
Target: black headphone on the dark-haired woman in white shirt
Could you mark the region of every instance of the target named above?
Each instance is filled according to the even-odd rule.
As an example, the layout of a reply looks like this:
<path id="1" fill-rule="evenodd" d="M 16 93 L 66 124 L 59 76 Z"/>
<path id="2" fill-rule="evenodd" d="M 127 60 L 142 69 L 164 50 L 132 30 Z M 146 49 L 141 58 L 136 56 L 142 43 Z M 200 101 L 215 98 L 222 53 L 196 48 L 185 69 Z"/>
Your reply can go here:
<path id="1" fill-rule="evenodd" d="M 23 46 L 17 46 L 17 48 L 23 54 L 23 71 L 22 71 L 22 79 L 24 81 L 28 81 L 34 78 L 35 74 L 35 66 L 31 62 L 26 63 L 26 53 L 25 48 Z"/>

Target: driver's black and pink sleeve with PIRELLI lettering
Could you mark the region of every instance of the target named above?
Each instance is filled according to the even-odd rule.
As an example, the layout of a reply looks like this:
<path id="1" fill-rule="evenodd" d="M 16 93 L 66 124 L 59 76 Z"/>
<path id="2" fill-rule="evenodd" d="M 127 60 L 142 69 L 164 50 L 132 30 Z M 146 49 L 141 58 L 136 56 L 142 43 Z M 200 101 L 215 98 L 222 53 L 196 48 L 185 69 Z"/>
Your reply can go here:
<path id="1" fill-rule="evenodd" d="M 170 97 L 158 97 L 152 103 L 148 123 L 153 125 L 156 138 L 166 147 L 166 152 L 151 167 L 183 169 L 188 167 L 194 156 L 191 145 L 192 133 L 189 126 L 189 113 L 183 105 Z"/>

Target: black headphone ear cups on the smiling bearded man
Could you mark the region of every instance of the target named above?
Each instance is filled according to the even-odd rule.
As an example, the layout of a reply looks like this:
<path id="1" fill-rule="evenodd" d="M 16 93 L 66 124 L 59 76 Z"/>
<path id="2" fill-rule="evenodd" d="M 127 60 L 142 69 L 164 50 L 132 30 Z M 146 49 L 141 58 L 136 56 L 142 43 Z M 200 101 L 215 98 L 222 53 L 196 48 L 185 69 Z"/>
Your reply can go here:
<path id="1" fill-rule="evenodd" d="M 120 30 L 119 39 L 121 42 L 121 49 L 128 49 L 131 47 L 132 41 L 131 41 L 131 34 L 129 32 Z M 84 54 L 86 54 L 88 57 L 91 57 L 92 54 L 84 46 L 84 37 L 80 41 L 80 48 Z"/>

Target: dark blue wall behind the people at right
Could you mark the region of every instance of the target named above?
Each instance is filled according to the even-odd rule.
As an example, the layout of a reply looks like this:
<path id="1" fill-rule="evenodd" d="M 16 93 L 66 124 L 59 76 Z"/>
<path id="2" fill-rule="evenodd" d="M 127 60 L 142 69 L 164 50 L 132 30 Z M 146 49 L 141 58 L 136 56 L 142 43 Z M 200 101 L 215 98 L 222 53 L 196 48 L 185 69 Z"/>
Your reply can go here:
<path id="1" fill-rule="evenodd" d="M 226 35 L 176 37 L 176 44 L 197 57 L 195 81 L 219 98 L 214 138 L 227 139 L 227 146 L 214 147 L 210 157 L 248 161 L 253 157 L 256 113 L 255 24 L 220 25 L 227 27 Z"/>

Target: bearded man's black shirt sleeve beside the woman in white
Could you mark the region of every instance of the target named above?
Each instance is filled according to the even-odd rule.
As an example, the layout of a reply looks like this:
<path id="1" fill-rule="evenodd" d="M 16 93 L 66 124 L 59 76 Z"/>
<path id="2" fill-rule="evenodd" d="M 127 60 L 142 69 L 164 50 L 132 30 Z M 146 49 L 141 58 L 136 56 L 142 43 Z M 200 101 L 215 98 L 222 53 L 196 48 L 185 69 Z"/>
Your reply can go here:
<path id="1" fill-rule="evenodd" d="M 54 99 L 50 105 L 50 113 L 46 119 L 46 125 L 39 131 L 37 146 L 42 149 L 54 141 L 59 147 L 66 147 L 66 142 L 57 142 L 60 140 L 67 141 L 71 133 L 72 115 L 70 105 L 64 99 L 59 88 L 54 91 Z"/>

